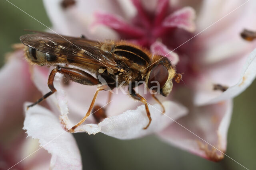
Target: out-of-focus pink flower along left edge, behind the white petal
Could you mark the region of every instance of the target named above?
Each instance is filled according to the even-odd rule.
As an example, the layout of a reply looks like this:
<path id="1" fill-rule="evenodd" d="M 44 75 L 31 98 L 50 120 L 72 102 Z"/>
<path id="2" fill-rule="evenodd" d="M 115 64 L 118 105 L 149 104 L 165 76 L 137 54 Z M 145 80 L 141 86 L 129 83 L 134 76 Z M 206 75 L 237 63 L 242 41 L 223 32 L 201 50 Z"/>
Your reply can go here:
<path id="1" fill-rule="evenodd" d="M 38 149 L 38 141 L 26 139 L 22 131 L 23 103 L 40 96 L 30 80 L 29 64 L 24 61 L 24 51 L 17 50 L 6 56 L 6 64 L 0 70 L 0 169 L 8 169 L 22 160 L 30 151 Z M 40 158 L 40 159 L 38 159 Z M 50 155 L 41 149 L 16 169 L 49 167 Z"/>

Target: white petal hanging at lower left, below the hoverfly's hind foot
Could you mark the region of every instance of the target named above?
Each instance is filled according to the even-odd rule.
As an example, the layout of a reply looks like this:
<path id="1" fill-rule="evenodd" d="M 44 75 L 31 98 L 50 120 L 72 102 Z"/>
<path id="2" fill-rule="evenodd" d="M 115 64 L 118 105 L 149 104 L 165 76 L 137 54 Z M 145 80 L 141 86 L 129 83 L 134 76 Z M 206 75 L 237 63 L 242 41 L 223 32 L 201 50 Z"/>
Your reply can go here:
<path id="1" fill-rule="evenodd" d="M 26 111 L 23 129 L 28 136 L 39 139 L 40 146 L 52 154 L 50 169 L 82 169 L 74 137 L 61 128 L 51 111 L 39 105 L 30 107 Z"/>

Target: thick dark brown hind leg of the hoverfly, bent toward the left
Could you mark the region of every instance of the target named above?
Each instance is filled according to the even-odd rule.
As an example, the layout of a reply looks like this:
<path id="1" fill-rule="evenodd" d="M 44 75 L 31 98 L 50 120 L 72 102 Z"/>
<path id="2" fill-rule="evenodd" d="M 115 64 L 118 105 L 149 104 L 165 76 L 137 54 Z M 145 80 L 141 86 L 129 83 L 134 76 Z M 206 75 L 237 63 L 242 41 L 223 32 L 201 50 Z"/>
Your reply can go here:
<path id="1" fill-rule="evenodd" d="M 56 89 L 54 88 L 54 85 L 53 85 L 53 81 L 54 81 L 55 74 L 57 72 L 64 74 L 70 80 L 80 83 L 80 84 L 85 84 L 85 85 L 90 85 L 90 86 L 99 84 L 98 79 L 94 78 L 92 75 L 88 74 L 87 72 L 84 72 L 84 71 L 76 69 L 76 68 L 57 66 L 56 68 L 54 68 L 52 70 L 52 72 L 50 73 L 49 78 L 48 78 L 48 87 L 50 88 L 51 91 L 46 93 L 38 101 L 29 105 L 27 108 L 35 106 L 36 104 L 42 102 L 44 99 L 48 98 L 50 95 L 52 95 L 52 94 L 54 94 L 54 92 L 56 92 Z"/>

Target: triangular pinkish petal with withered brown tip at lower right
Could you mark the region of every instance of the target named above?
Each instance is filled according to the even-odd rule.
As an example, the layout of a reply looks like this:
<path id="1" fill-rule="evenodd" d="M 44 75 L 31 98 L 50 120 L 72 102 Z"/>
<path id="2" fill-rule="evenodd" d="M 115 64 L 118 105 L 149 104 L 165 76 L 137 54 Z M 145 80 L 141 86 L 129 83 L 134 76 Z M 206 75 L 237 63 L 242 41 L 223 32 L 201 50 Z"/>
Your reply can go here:
<path id="1" fill-rule="evenodd" d="M 178 119 L 179 124 L 172 123 L 158 135 L 176 147 L 215 162 L 220 161 L 226 151 L 232 107 L 232 100 L 192 107 L 187 116 Z"/>

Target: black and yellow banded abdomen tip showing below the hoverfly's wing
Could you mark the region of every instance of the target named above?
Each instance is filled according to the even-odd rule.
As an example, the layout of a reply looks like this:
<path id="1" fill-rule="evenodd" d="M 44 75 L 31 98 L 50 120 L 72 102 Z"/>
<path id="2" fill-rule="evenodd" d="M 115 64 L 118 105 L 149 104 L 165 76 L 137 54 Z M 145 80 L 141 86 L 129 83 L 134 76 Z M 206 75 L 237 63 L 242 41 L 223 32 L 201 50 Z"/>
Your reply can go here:
<path id="1" fill-rule="evenodd" d="M 57 57 L 56 55 L 38 51 L 32 47 L 26 47 L 25 51 L 26 59 L 40 66 L 54 65 L 56 63 L 65 63 L 65 60 L 63 58 Z"/>

